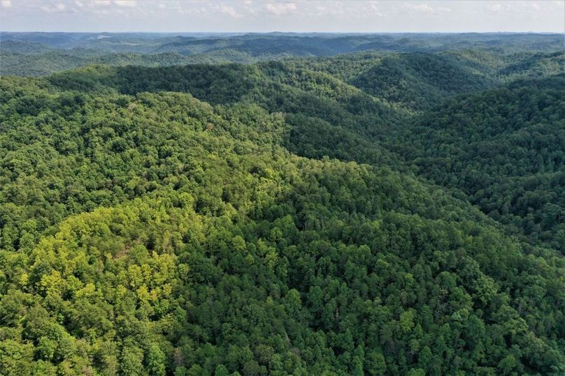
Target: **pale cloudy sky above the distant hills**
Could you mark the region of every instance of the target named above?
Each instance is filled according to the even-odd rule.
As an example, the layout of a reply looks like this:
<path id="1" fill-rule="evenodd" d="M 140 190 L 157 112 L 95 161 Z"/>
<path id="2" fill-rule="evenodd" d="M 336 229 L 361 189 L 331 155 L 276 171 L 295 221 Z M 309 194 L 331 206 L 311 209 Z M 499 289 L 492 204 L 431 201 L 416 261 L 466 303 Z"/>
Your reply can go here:
<path id="1" fill-rule="evenodd" d="M 565 32 L 565 0 L 0 0 L 3 31 Z"/>

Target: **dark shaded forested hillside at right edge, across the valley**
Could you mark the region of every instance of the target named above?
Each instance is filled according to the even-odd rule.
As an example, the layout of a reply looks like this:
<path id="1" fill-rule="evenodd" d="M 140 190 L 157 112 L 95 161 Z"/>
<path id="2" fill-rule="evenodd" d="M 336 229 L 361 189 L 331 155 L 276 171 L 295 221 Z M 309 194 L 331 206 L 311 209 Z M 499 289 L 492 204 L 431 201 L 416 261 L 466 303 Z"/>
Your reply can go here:
<path id="1" fill-rule="evenodd" d="M 557 75 L 450 100 L 392 147 L 511 232 L 565 252 L 564 87 Z"/>

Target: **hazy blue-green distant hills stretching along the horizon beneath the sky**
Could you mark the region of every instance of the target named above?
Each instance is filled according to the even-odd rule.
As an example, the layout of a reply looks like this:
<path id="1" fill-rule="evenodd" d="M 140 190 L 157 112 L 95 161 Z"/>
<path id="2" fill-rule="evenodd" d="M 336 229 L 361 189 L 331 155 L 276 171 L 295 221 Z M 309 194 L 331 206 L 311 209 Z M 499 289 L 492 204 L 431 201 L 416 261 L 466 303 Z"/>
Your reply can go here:
<path id="1" fill-rule="evenodd" d="M 0 33 L 0 74 L 48 75 L 90 66 L 255 63 L 352 52 L 480 51 L 488 63 L 562 50 L 560 34 L 508 33 Z M 525 53 L 524 56 L 522 56 Z M 492 57 L 494 55 L 494 58 Z M 535 59 L 538 61 L 538 59 Z M 485 63 L 485 61 L 480 61 Z M 527 68 L 531 61 L 525 63 Z M 552 68 L 550 63 L 540 69 Z M 512 67 L 510 70 L 514 71 Z"/>

